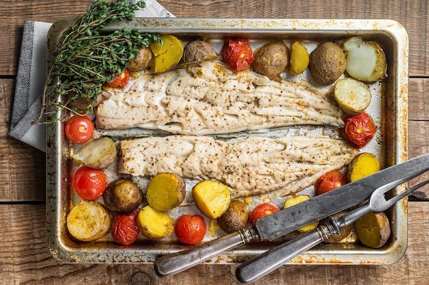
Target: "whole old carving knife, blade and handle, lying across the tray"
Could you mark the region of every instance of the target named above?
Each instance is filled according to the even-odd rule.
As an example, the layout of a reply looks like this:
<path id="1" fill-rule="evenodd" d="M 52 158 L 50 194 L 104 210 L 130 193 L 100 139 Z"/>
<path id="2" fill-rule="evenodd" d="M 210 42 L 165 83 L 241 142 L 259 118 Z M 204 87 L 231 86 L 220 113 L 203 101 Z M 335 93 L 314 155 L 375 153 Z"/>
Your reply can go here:
<path id="1" fill-rule="evenodd" d="M 306 202 L 256 220 L 239 232 L 196 245 L 182 252 L 162 256 L 154 262 L 156 275 L 167 277 L 214 258 L 254 239 L 269 240 L 293 232 L 369 199 L 380 187 L 393 189 L 429 170 L 429 154 L 380 170 L 355 182 L 318 195 Z"/>

